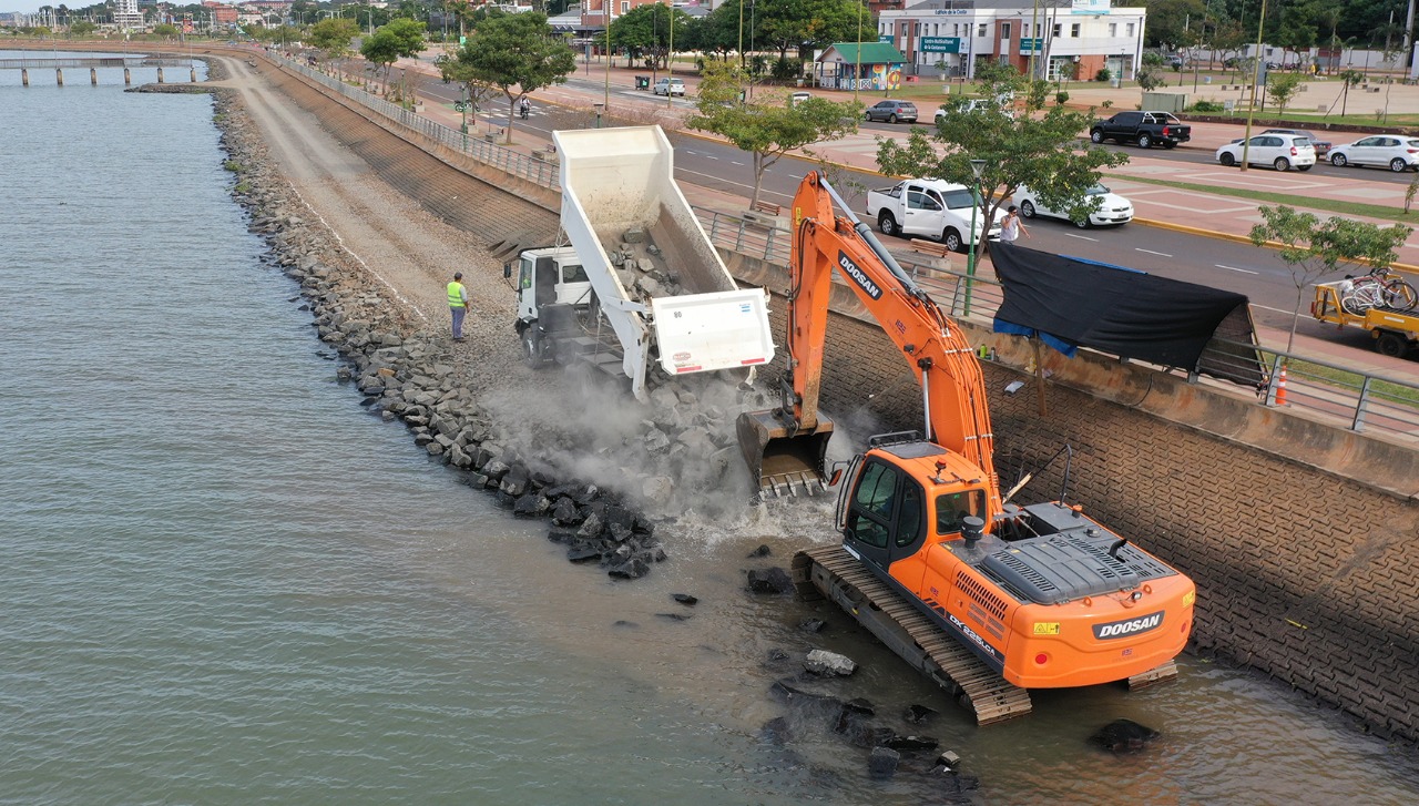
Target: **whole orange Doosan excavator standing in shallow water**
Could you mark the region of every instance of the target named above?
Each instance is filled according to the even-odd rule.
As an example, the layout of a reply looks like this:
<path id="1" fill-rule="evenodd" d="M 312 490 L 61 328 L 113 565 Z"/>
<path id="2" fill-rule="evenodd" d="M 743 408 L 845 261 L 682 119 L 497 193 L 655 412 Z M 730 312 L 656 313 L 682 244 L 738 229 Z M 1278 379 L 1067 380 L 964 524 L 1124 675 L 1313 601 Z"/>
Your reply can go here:
<path id="1" fill-rule="evenodd" d="M 738 421 L 761 478 L 823 474 L 834 268 L 901 349 L 925 409 L 924 431 L 876 436 L 833 474 L 843 542 L 799 552 L 799 592 L 837 602 L 979 724 L 1029 712 L 1029 688 L 1175 677 L 1192 580 L 1078 507 L 1009 502 L 1023 482 L 1002 495 L 975 350 L 817 173 L 793 199 L 789 268 L 782 402 Z"/>

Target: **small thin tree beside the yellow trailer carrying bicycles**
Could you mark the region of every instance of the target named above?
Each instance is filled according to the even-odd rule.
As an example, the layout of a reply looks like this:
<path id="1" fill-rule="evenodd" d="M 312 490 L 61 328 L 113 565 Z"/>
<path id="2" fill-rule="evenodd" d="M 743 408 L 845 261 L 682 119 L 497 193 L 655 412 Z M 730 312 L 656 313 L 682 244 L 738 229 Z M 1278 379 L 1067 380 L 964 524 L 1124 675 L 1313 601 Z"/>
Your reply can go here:
<path id="1" fill-rule="evenodd" d="M 1305 289 L 1337 274 L 1341 268 L 1368 264 L 1388 267 L 1399 257 L 1398 250 L 1413 233 L 1412 227 L 1395 224 L 1381 227 L 1332 216 L 1321 221 L 1314 213 L 1303 213 L 1284 204 L 1260 207 L 1261 224 L 1252 227 L 1252 243 L 1257 247 L 1281 245 L 1281 261 L 1291 270 L 1296 285 L 1296 308 L 1291 311 L 1291 335 L 1286 352 L 1296 343 L 1296 325 L 1301 316 Z"/>

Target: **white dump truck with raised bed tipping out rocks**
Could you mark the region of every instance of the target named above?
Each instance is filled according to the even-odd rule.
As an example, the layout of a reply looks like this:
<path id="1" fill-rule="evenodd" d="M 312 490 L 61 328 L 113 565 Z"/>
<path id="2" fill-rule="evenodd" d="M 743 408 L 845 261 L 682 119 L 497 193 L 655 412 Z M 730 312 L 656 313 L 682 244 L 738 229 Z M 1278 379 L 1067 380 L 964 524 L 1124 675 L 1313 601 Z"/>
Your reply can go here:
<path id="1" fill-rule="evenodd" d="M 529 363 L 619 360 L 644 399 L 654 363 L 674 376 L 773 360 L 768 295 L 735 285 L 675 184 L 660 126 L 552 136 L 570 243 L 518 258 L 515 326 Z M 614 339 L 600 338 L 606 325 Z"/>

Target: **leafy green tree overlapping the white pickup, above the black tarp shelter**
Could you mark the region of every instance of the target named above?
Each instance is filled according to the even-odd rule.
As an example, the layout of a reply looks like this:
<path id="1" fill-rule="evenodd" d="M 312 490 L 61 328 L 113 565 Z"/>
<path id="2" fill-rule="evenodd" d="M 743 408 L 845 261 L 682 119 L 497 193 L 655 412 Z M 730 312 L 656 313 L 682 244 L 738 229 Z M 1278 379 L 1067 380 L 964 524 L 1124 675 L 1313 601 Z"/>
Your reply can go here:
<path id="1" fill-rule="evenodd" d="M 1071 112 L 1054 105 L 1040 115 L 1043 94 L 1029 85 L 1044 82 L 1032 82 L 1009 65 L 981 72 L 986 98 L 1025 96 L 1025 114 L 1010 116 L 995 105 L 966 111 L 968 99 L 954 96 L 944 105 L 948 114 L 929 135 L 914 128 L 905 145 L 880 142 L 878 167 L 894 176 L 935 176 L 969 186 L 975 182 L 969 160 L 985 160 L 981 193 L 986 230 L 1022 184 L 1040 197 L 1042 206 L 1064 211 L 1076 221 L 1086 220 L 1100 203 L 1100 197 L 1084 193 L 1098 182 L 1098 169 L 1124 165 L 1128 155 L 1101 146 L 1073 146 L 1078 133 L 1094 122 L 1094 111 Z"/>

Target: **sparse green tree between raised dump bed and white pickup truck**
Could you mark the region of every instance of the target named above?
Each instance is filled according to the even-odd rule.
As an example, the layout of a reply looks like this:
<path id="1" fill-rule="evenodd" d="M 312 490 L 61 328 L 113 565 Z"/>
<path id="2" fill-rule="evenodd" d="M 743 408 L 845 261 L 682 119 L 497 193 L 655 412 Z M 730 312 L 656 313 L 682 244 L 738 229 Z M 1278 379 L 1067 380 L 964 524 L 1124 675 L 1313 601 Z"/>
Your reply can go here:
<path id="1" fill-rule="evenodd" d="M 857 132 L 863 114 L 853 101 L 834 104 L 809 98 L 790 104 L 782 92 L 761 92 L 752 102 L 742 101 L 748 85 L 744 70 L 732 62 L 710 62 L 700 82 L 698 114 L 685 123 L 692 129 L 727 138 L 739 150 L 753 155 L 753 196 L 759 200 L 763 172 L 785 153 Z"/>

